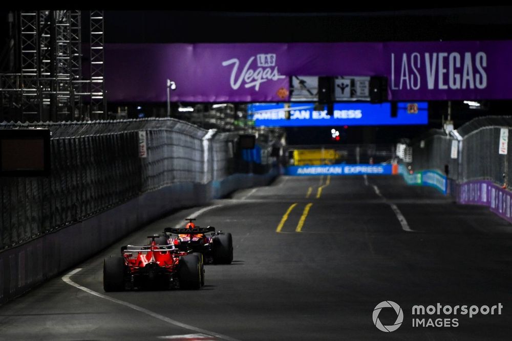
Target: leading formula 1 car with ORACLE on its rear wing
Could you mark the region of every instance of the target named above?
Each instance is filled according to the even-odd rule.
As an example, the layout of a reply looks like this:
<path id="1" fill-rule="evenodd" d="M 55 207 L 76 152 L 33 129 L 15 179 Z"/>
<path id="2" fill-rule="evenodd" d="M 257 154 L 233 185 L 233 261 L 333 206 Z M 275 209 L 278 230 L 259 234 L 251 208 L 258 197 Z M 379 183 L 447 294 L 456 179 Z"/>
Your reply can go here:
<path id="1" fill-rule="evenodd" d="M 160 238 L 162 242 L 176 246 L 183 252 L 200 253 L 205 263 L 230 264 L 233 261 L 233 239 L 230 233 L 215 232 L 214 226 L 200 228 L 194 218 L 185 219 L 184 228 L 166 228 Z M 205 233 L 212 232 L 207 236 Z M 178 235 L 174 238 L 172 235 Z"/>

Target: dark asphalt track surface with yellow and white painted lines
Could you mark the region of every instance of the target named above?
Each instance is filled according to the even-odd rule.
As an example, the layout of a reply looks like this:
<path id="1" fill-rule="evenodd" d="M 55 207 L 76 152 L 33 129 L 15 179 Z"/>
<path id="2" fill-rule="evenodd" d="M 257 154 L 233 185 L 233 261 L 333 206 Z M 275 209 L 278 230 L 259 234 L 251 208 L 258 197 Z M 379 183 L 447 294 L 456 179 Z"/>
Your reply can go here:
<path id="1" fill-rule="evenodd" d="M 197 224 L 231 232 L 234 259 L 206 265 L 201 290 L 105 293 L 102 287 L 104 257 L 118 255 L 121 245 L 146 243 L 146 236 L 202 209 L 190 208 L 1 306 L 0 340 L 512 337 L 512 225 L 488 208 L 455 204 L 399 176 L 281 176 L 212 205 L 218 206 L 203 210 Z M 387 300 L 403 312 L 393 332 L 378 330 L 372 319 Z M 412 315 L 414 305 L 437 303 L 503 308 L 471 318 Z M 458 319 L 458 327 L 413 327 L 413 317 L 425 324 Z M 397 313 L 384 308 L 378 319 L 393 325 Z"/>

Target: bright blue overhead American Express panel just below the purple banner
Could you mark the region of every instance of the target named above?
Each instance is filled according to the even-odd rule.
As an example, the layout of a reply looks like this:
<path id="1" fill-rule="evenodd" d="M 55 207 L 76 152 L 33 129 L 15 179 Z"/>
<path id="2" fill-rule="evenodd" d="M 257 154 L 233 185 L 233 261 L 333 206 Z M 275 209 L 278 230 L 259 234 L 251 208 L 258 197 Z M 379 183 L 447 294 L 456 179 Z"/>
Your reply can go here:
<path id="1" fill-rule="evenodd" d="M 398 102 L 397 115 L 391 117 L 391 103 L 335 103 L 332 116 L 327 108 L 315 110 L 314 103 L 253 103 L 248 119 L 257 127 L 371 126 L 428 124 L 428 102 Z M 288 118 L 287 118 L 288 117 Z"/>

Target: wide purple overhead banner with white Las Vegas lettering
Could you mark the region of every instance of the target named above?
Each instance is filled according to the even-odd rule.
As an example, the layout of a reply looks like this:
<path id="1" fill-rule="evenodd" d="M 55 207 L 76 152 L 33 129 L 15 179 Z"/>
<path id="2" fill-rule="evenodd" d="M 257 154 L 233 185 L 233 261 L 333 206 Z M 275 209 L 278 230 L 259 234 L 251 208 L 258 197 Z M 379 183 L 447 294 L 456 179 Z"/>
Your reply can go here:
<path id="1" fill-rule="evenodd" d="M 391 100 L 512 99 L 512 40 L 107 44 L 109 101 L 284 102 L 289 76 L 386 76 Z"/>

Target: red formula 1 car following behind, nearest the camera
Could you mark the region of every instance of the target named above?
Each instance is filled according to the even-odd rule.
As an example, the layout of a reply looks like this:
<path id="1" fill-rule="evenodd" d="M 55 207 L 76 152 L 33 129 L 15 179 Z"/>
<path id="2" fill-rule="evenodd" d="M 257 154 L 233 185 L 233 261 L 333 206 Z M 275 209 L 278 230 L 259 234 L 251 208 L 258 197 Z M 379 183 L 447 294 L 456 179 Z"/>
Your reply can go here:
<path id="1" fill-rule="evenodd" d="M 121 256 L 105 258 L 105 291 L 148 287 L 199 289 L 204 285 L 202 254 L 182 251 L 174 244 L 159 245 L 159 235 L 148 238 L 149 245 L 122 246 Z"/>

